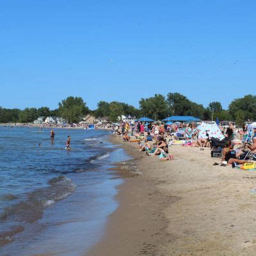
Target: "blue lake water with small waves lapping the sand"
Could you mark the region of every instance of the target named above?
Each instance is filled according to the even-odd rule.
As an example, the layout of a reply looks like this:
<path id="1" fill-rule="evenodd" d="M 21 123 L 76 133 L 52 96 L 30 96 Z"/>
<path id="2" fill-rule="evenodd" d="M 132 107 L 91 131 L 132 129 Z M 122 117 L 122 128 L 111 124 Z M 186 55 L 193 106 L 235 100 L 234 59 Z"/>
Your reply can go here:
<path id="1" fill-rule="evenodd" d="M 108 131 L 50 131 L 0 127 L 0 255 L 83 255 L 117 207 L 108 168 L 128 157 Z"/>

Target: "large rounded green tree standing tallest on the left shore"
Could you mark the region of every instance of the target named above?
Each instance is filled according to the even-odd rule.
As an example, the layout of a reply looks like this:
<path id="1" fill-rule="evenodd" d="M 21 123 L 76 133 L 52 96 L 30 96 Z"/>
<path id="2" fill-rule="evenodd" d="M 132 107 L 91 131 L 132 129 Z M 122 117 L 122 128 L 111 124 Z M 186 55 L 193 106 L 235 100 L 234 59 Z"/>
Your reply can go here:
<path id="1" fill-rule="evenodd" d="M 67 97 L 59 103 L 60 115 L 69 123 L 78 123 L 81 118 L 89 113 L 86 102 L 81 97 Z"/>

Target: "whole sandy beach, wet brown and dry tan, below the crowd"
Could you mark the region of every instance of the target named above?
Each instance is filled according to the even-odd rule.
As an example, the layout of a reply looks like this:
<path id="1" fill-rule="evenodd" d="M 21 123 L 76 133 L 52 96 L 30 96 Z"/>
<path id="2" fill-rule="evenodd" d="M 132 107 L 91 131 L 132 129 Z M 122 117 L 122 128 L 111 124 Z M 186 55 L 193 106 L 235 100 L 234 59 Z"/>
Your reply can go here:
<path id="1" fill-rule="evenodd" d="M 173 145 L 161 162 L 135 146 L 122 146 L 134 160 L 116 168 L 139 175 L 124 175 L 120 207 L 86 255 L 255 255 L 255 172 L 212 166 L 209 148 Z"/>

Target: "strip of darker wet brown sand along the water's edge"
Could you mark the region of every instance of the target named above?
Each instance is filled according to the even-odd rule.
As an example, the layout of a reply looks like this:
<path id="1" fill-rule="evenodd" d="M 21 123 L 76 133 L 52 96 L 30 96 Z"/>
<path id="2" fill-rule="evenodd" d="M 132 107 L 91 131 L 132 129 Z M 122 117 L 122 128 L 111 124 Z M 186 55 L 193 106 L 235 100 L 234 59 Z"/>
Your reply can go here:
<path id="1" fill-rule="evenodd" d="M 115 145 L 122 143 L 116 136 L 111 136 L 109 141 Z M 108 217 L 102 240 L 95 244 L 86 256 L 155 255 L 159 244 L 168 237 L 164 233 L 167 220 L 163 216 L 163 206 L 175 198 L 164 196 L 163 199 L 163 191 L 156 188 L 158 182 L 145 179 L 145 173 L 141 171 L 147 158 L 143 157 L 143 153 L 134 150 L 129 143 L 120 147 L 124 148 L 132 159 L 116 163 L 115 168 L 112 168 L 124 179 L 117 188 L 118 209 Z M 152 201 L 158 201 L 158 204 L 152 204 Z"/>

